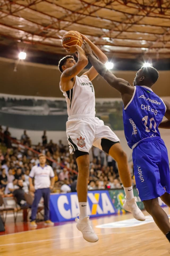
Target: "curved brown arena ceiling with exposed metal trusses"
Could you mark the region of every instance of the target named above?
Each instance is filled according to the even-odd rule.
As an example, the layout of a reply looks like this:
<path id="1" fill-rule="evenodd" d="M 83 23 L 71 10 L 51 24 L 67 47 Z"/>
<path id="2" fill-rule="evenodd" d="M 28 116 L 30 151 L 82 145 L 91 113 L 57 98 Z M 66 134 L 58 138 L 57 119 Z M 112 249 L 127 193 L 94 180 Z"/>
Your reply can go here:
<path id="1" fill-rule="evenodd" d="M 66 54 L 62 35 L 77 30 L 108 56 L 170 58 L 169 0 L 0 2 L 1 45 Z"/>

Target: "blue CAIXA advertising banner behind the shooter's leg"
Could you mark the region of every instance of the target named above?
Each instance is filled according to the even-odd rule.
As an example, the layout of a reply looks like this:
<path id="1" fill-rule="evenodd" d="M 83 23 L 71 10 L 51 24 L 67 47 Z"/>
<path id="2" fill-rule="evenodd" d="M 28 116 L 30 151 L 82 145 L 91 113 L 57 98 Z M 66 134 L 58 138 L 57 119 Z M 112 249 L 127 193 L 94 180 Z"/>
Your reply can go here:
<path id="1" fill-rule="evenodd" d="M 107 190 L 88 191 L 87 214 L 91 217 L 116 214 Z M 51 194 L 50 219 L 53 222 L 74 220 L 79 214 L 77 193 Z"/>

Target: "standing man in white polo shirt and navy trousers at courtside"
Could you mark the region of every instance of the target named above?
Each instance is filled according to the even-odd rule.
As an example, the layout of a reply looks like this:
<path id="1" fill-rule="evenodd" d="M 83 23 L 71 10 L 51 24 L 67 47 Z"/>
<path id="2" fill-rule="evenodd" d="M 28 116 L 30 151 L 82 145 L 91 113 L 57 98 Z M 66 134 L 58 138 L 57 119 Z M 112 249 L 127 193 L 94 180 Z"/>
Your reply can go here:
<path id="1" fill-rule="evenodd" d="M 49 199 L 50 189 L 54 186 L 54 172 L 50 165 L 46 165 L 46 156 L 44 154 L 39 155 L 39 164 L 32 167 L 29 173 L 29 186 L 30 191 L 35 192 L 34 201 L 31 209 L 31 222 L 30 226 L 37 227 L 35 222 L 38 204 L 41 197 L 44 198 L 44 221 L 45 225 L 53 226 L 54 223 L 49 220 Z M 34 178 L 34 186 L 32 179 Z"/>

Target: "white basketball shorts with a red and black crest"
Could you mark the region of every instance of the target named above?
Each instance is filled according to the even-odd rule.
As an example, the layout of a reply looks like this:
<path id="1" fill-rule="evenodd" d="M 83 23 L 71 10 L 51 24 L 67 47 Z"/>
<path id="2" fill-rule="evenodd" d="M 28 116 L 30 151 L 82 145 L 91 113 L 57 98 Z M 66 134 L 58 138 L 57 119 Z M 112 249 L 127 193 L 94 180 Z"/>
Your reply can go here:
<path id="1" fill-rule="evenodd" d="M 89 152 L 92 145 L 102 150 L 101 139 L 109 139 L 113 142 L 118 142 L 120 139 L 110 129 L 109 126 L 104 125 L 104 122 L 98 117 L 73 116 L 66 122 L 67 141 L 69 143 L 70 154 L 74 151 L 80 150 Z"/>

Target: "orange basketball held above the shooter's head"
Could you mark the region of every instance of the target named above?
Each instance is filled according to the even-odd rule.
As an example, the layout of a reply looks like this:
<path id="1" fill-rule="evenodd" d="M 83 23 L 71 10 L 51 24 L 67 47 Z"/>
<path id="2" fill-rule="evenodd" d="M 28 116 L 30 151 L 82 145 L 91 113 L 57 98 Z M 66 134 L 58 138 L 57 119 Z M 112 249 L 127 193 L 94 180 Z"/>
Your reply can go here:
<path id="1" fill-rule="evenodd" d="M 83 38 L 78 31 L 68 31 L 62 37 L 62 46 L 79 45 L 82 46 Z"/>

